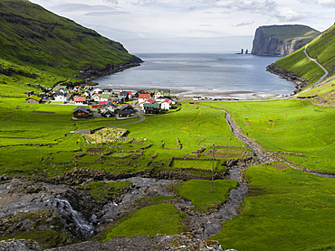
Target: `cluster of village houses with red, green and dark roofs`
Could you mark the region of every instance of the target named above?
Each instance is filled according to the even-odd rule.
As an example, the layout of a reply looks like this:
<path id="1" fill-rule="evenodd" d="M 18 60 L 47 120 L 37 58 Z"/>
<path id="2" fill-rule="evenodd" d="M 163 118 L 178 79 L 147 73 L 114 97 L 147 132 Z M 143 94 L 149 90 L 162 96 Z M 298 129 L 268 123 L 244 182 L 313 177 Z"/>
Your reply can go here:
<path id="1" fill-rule="evenodd" d="M 136 113 L 159 114 L 168 111 L 176 104 L 176 98 L 170 96 L 169 90 L 113 90 L 112 88 L 93 88 L 92 86 L 56 86 L 40 88 L 41 92 L 26 91 L 26 103 L 57 104 L 76 106 L 73 119 L 92 117 L 116 117 L 125 119 L 136 117 Z"/>

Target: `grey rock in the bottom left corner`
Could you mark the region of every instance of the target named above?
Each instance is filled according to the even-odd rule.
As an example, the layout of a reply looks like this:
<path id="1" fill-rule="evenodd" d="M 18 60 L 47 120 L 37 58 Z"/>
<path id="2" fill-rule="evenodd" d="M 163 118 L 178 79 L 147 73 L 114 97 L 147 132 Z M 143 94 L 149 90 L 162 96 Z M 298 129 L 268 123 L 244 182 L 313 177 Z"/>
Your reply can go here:
<path id="1" fill-rule="evenodd" d="M 0 241 L 0 251 L 42 251 L 42 247 L 31 239 L 9 239 Z"/>

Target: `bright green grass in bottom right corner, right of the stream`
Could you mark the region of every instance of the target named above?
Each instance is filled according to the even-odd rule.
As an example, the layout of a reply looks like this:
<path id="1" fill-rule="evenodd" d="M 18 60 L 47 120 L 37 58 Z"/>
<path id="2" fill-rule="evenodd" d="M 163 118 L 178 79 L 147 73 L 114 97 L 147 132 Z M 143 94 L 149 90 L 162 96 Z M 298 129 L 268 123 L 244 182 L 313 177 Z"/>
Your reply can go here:
<path id="1" fill-rule="evenodd" d="M 241 215 L 223 224 L 213 239 L 224 249 L 333 250 L 333 179 L 271 165 L 249 167 Z"/>

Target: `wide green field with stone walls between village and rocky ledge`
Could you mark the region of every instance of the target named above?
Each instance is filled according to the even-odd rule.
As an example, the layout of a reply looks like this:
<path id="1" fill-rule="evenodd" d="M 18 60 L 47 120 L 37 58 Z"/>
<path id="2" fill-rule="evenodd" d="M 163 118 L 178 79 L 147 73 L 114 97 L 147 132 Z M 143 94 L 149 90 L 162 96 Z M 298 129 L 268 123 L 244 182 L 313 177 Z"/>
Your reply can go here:
<path id="1" fill-rule="evenodd" d="M 203 153 L 197 154 L 196 151 L 211 147 L 212 144 L 242 145 L 231 134 L 223 112 L 188 104 L 178 112 L 148 116 L 142 123 L 122 126 L 129 130 L 123 143 L 104 142 L 101 145 L 98 131 L 98 144 L 88 144 L 83 135 L 70 132 L 120 125 L 125 121 L 114 118 L 73 121 L 72 110 L 72 106 L 27 104 L 24 98 L 0 98 L 0 119 L 3 125 L 0 129 L 0 153 L 4 156 L 0 160 L 0 166 L 4 167 L 1 172 L 33 174 L 35 170 L 52 177 L 72 169 L 75 164 L 109 172 L 136 172 L 155 166 L 168 168 L 172 157 L 189 155 L 206 158 Z M 103 136 L 106 137 L 106 134 Z M 133 139 L 134 144 L 129 139 Z M 227 151 L 231 149 L 227 148 Z M 96 162 L 97 156 L 75 158 L 81 153 L 109 152 L 99 163 Z M 127 156 L 130 156 L 129 160 L 123 160 Z"/>

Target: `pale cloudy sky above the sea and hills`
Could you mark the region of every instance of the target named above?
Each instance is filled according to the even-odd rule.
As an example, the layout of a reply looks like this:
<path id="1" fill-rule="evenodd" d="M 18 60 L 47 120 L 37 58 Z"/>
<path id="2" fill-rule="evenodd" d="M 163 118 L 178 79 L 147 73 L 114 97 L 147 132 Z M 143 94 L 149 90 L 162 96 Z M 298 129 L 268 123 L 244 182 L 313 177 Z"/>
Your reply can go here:
<path id="1" fill-rule="evenodd" d="M 30 1 L 132 53 L 251 51 L 259 26 L 304 24 L 323 32 L 335 22 L 335 0 Z"/>

